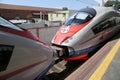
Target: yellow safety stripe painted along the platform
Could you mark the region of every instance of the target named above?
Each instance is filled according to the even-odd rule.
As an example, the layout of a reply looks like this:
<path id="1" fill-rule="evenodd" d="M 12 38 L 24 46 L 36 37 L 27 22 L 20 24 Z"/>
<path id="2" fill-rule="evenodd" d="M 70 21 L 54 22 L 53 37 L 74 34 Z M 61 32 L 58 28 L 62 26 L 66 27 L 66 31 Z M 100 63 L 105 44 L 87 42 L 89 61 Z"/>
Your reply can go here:
<path id="1" fill-rule="evenodd" d="M 89 78 L 89 80 L 102 80 L 103 75 L 105 74 L 107 68 L 109 67 L 112 59 L 116 55 L 119 47 L 120 47 L 120 40 L 118 40 L 118 42 L 112 48 L 110 53 L 106 56 L 106 58 L 103 60 L 100 66 L 96 69 L 93 75 Z"/>

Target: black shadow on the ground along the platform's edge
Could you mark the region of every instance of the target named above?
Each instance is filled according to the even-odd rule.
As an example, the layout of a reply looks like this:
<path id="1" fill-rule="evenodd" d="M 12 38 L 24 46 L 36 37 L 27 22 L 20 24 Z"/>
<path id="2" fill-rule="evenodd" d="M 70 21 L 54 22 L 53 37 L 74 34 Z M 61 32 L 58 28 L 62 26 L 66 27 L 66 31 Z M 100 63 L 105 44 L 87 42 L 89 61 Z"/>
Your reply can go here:
<path id="1" fill-rule="evenodd" d="M 46 77 L 42 80 L 64 80 L 70 73 L 72 73 L 75 69 L 81 66 L 85 60 L 83 61 L 68 61 L 65 64 L 66 69 L 62 72 L 57 73 L 53 72 L 51 74 L 46 75 Z"/>

